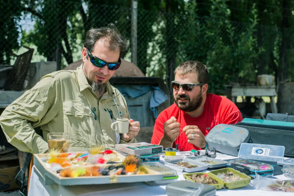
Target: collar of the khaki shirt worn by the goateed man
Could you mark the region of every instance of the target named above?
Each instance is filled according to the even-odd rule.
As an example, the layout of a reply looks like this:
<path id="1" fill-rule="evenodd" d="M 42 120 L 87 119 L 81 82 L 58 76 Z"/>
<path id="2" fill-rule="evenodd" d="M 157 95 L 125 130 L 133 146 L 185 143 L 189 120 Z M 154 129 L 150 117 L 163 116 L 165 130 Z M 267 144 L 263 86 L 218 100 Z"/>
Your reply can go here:
<path id="1" fill-rule="evenodd" d="M 83 72 L 83 64 L 81 64 L 76 70 L 77 70 L 77 75 L 78 75 L 78 85 L 80 87 L 80 92 L 83 91 L 83 90 L 85 90 L 86 88 L 92 88 L 89 85 L 88 80 L 87 80 L 87 78 L 86 78 L 86 76 L 85 76 L 85 74 Z M 105 88 L 107 90 L 107 94 L 110 97 L 115 97 L 114 91 L 113 91 L 113 89 L 112 89 L 111 84 L 109 83 L 109 81 L 107 81 L 105 83 Z M 104 98 L 106 98 L 106 97 L 104 97 Z"/>

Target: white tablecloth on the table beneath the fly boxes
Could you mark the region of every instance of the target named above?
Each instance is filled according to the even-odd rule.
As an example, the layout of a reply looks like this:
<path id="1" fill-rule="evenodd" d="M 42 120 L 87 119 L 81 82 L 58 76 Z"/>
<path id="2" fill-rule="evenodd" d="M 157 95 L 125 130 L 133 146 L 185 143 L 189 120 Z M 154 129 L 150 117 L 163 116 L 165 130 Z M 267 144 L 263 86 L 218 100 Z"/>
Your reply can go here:
<path id="1" fill-rule="evenodd" d="M 204 154 L 204 151 L 201 151 L 201 155 Z M 218 159 L 231 159 L 235 158 L 230 155 L 225 155 L 222 153 L 217 153 Z M 161 158 L 162 161 L 163 158 Z M 184 180 L 184 173 L 178 173 L 178 180 Z M 278 178 L 281 180 L 287 180 L 288 178 L 284 175 L 277 175 L 273 178 Z M 253 181 L 253 180 L 251 180 Z M 45 185 L 43 181 L 39 180 L 38 175 L 35 173 L 34 167 L 32 168 L 30 184 L 29 184 L 29 193 L 28 196 L 163 196 L 166 195 L 165 192 L 166 185 L 161 186 L 151 186 L 146 183 L 120 183 L 120 184 L 109 184 L 109 185 L 81 185 L 81 186 L 59 186 L 59 185 Z M 284 192 L 269 192 L 255 190 L 252 185 L 248 185 L 243 188 L 234 189 L 234 190 L 217 190 L 217 196 L 268 196 L 268 195 L 294 195 L 293 193 L 284 193 Z"/>

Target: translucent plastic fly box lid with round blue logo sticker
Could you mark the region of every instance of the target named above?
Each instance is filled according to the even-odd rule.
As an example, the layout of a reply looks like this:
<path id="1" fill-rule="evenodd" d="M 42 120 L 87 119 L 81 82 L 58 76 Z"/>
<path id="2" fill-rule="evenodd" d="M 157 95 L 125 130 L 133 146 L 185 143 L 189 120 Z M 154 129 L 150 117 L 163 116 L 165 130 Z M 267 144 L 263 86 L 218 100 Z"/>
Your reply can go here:
<path id="1" fill-rule="evenodd" d="M 284 158 L 284 146 L 241 143 L 238 158 L 277 163 Z"/>

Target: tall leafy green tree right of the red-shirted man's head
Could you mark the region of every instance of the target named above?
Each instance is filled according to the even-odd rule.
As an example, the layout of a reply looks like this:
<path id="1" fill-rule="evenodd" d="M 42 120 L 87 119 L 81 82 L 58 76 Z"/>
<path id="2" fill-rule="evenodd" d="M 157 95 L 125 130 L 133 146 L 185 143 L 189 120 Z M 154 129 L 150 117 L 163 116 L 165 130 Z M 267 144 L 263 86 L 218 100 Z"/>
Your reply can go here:
<path id="1" fill-rule="evenodd" d="M 211 90 L 215 92 L 230 82 L 254 81 L 253 62 L 262 51 L 262 48 L 257 48 L 254 37 L 258 20 L 255 5 L 241 33 L 236 32 L 233 22 L 228 20 L 230 10 L 226 0 L 212 0 L 211 7 L 206 26 L 206 37 L 209 40 L 206 64 L 210 70 Z"/>

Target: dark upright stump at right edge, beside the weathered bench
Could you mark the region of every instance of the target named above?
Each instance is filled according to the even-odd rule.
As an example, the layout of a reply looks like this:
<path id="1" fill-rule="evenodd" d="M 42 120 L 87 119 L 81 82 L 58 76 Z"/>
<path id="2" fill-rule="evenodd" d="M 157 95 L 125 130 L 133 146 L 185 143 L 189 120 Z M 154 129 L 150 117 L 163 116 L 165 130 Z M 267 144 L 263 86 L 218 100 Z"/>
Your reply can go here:
<path id="1" fill-rule="evenodd" d="M 278 113 L 294 115 L 294 82 L 280 83 L 278 88 Z"/>

